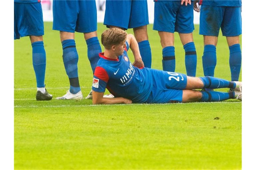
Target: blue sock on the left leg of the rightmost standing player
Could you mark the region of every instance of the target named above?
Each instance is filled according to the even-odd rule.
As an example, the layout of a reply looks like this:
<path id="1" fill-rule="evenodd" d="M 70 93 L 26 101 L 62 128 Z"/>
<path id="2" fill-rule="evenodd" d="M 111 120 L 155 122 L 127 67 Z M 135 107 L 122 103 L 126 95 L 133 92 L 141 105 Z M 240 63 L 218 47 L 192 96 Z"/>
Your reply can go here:
<path id="1" fill-rule="evenodd" d="M 202 56 L 204 76 L 214 76 L 214 69 L 217 63 L 216 46 L 205 45 L 204 55 Z"/>

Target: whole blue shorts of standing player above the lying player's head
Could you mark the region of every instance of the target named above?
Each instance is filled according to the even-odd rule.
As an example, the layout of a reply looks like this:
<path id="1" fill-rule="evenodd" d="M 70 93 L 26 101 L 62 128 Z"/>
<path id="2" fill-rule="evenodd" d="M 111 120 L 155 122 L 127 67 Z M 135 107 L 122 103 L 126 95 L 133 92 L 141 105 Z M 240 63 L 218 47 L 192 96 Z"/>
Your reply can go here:
<path id="1" fill-rule="evenodd" d="M 104 25 L 124 29 L 148 25 L 148 4 L 146 0 L 107 0 Z"/>

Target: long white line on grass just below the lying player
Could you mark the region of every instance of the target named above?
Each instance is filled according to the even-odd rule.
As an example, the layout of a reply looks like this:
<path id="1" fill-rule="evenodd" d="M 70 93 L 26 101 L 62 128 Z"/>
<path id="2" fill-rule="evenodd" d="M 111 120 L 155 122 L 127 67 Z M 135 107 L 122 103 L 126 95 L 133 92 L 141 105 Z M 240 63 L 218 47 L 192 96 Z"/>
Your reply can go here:
<path id="1" fill-rule="evenodd" d="M 30 106 L 20 106 L 16 105 L 14 108 L 60 108 L 60 107 L 101 107 L 101 106 L 131 106 L 131 105 L 191 105 L 191 104 L 213 104 L 213 103 L 223 103 L 223 104 L 237 104 L 240 102 L 194 102 L 194 103 L 164 103 L 164 104 L 117 104 L 117 105 L 55 105 L 55 106 L 37 106 L 37 105 L 30 105 Z"/>

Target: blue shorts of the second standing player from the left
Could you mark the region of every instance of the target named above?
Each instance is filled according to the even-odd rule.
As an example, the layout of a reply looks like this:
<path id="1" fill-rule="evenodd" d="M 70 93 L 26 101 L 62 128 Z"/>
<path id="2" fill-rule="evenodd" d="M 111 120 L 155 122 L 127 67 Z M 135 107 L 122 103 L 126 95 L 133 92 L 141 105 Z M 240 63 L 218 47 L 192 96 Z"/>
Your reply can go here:
<path id="1" fill-rule="evenodd" d="M 53 30 L 90 33 L 97 30 L 95 0 L 54 0 Z"/>

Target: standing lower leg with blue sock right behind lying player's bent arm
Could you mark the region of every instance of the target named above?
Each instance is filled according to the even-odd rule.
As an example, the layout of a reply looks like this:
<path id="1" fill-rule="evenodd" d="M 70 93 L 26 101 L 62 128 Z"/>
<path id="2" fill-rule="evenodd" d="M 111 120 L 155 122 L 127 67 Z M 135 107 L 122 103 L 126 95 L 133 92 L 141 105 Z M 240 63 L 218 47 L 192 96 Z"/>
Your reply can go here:
<path id="1" fill-rule="evenodd" d="M 148 41 L 147 26 L 133 28 L 134 36 L 139 45 L 140 55 L 144 66 L 151 68 L 152 55 Z"/>

